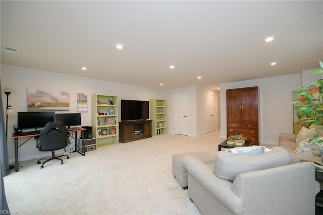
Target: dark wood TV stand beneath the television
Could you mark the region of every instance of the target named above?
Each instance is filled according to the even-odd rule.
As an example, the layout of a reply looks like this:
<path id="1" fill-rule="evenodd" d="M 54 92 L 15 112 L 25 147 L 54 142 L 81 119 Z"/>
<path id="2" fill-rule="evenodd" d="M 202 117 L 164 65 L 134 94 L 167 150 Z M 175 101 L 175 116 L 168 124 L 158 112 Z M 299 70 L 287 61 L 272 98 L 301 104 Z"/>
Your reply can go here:
<path id="1" fill-rule="evenodd" d="M 152 137 L 151 121 L 152 120 L 137 120 L 119 122 L 119 142 L 127 143 Z"/>

